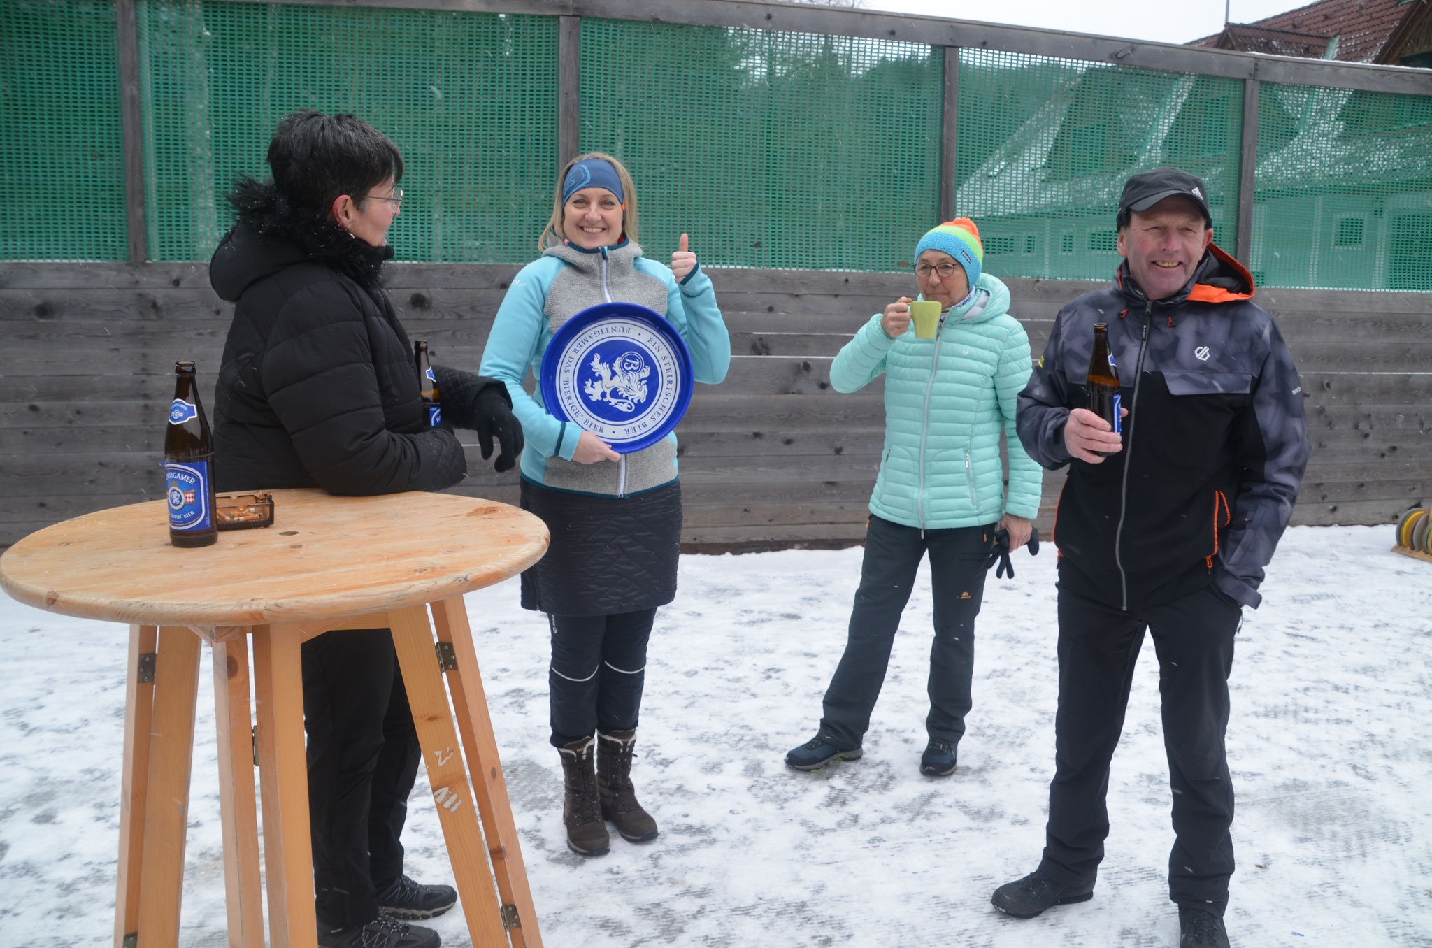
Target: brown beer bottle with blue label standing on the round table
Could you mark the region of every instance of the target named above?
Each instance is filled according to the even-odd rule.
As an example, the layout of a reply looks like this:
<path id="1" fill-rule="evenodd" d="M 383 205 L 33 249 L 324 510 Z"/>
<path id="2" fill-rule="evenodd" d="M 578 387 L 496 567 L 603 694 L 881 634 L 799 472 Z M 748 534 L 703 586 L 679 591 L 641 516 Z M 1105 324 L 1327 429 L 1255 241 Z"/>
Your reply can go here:
<path id="1" fill-rule="evenodd" d="M 165 428 L 169 543 L 206 547 L 219 538 L 213 520 L 213 438 L 203 415 L 193 362 L 175 362 L 175 400 Z"/>

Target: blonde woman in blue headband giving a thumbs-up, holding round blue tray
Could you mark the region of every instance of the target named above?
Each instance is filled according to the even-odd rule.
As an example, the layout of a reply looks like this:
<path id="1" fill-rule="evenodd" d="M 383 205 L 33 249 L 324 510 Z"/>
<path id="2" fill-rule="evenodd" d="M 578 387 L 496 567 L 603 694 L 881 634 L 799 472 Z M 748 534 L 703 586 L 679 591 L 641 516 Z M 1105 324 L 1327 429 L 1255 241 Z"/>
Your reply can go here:
<path id="1" fill-rule="evenodd" d="M 551 544 L 523 573 L 523 609 L 547 613 L 551 743 L 561 756 L 567 846 L 609 851 L 606 819 L 632 842 L 657 835 L 636 799 L 632 756 L 659 606 L 676 596 L 682 487 L 676 435 L 619 455 L 596 434 L 558 421 L 541 401 L 553 334 L 589 306 L 634 302 L 666 316 L 692 354 L 697 382 L 730 365 L 730 335 L 687 235 L 667 266 L 642 255 L 636 185 L 621 162 L 579 155 L 557 179 L 541 256 L 517 274 L 483 349 L 484 371 L 507 381 L 523 422 L 523 510 Z M 536 391 L 523 391 L 527 372 Z M 593 770 L 596 765 L 596 770 Z"/>

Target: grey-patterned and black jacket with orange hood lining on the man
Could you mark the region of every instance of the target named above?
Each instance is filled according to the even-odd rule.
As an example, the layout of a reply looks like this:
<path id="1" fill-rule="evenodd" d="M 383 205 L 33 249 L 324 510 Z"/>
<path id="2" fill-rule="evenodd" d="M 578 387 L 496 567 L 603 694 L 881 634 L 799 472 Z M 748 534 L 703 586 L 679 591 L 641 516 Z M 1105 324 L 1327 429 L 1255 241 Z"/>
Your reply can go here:
<path id="1" fill-rule="evenodd" d="M 1210 245 L 1189 285 L 1148 299 L 1118 284 L 1064 306 L 1020 392 L 1020 441 L 1047 468 L 1070 465 L 1054 543 L 1060 584 L 1123 610 L 1210 581 L 1256 607 L 1307 465 L 1293 358 L 1254 305 L 1253 278 Z M 1070 458 L 1064 422 L 1087 407 L 1094 324 L 1118 364 L 1124 448 L 1101 464 Z"/>

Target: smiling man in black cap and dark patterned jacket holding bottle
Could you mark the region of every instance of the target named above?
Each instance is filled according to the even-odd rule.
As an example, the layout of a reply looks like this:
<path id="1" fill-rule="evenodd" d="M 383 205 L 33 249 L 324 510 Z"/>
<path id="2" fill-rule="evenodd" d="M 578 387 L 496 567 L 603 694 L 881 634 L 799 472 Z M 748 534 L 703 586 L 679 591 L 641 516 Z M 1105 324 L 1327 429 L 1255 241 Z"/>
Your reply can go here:
<path id="1" fill-rule="evenodd" d="M 1229 944 L 1233 785 L 1224 732 L 1242 607 L 1307 464 L 1302 387 L 1253 279 L 1213 243 L 1201 180 L 1134 175 L 1118 205 L 1114 286 L 1060 311 L 1020 394 L 1024 448 L 1070 465 L 1055 514 L 1060 697 L 1044 858 L 994 905 L 1032 918 L 1093 896 L 1108 768 L 1144 630 L 1158 656 L 1180 948 Z M 1094 325 L 1108 324 L 1121 432 L 1087 410 Z"/>

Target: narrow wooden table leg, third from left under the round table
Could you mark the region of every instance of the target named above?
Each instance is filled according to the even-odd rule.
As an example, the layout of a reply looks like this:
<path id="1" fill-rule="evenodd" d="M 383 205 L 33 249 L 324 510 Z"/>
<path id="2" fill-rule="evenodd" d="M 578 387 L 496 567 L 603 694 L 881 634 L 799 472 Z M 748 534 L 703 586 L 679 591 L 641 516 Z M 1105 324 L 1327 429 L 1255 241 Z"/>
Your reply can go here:
<path id="1" fill-rule="evenodd" d="M 231 948 L 263 948 L 259 826 L 253 798 L 249 637 L 213 643 L 213 719 L 219 737 L 219 813 Z"/>

